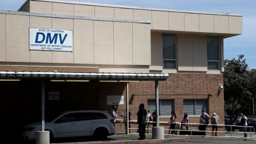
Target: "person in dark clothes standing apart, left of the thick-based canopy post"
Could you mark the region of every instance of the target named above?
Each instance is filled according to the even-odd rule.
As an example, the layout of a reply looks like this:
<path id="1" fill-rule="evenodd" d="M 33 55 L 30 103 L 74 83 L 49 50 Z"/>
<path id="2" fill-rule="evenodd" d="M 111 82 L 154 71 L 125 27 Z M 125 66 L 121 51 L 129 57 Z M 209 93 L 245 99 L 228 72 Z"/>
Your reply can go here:
<path id="1" fill-rule="evenodd" d="M 146 115 L 147 115 L 147 111 L 146 111 L 146 109 L 144 109 L 144 104 L 140 103 L 139 111 L 137 113 L 137 117 L 138 117 L 137 123 L 139 124 L 139 135 L 140 135 L 140 138 L 138 140 L 145 139 Z"/>

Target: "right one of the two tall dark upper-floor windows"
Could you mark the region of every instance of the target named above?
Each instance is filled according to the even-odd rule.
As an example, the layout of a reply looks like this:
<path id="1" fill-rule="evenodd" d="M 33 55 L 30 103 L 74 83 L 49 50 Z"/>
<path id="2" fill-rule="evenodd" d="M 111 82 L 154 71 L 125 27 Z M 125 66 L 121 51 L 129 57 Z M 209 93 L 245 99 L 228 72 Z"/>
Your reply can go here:
<path id="1" fill-rule="evenodd" d="M 220 69 L 219 37 L 207 37 L 207 65 L 208 69 Z"/>

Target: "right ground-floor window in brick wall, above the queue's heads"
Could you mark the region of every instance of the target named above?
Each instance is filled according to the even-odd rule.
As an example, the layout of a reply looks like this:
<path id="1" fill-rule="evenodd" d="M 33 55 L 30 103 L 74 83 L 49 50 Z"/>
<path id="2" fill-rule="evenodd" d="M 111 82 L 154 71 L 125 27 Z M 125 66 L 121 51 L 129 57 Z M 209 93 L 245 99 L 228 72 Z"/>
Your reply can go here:
<path id="1" fill-rule="evenodd" d="M 183 111 L 188 115 L 201 115 L 202 110 L 208 111 L 208 102 L 205 99 L 183 100 Z"/>

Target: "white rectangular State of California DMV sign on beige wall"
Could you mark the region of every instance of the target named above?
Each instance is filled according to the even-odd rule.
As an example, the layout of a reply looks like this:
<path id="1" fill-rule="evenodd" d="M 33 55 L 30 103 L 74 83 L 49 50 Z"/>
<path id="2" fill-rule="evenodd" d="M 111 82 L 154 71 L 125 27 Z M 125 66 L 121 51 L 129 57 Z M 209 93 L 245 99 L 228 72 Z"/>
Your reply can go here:
<path id="1" fill-rule="evenodd" d="M 29 50 L 73 51 L 73 31 L 29 28 Z"/>

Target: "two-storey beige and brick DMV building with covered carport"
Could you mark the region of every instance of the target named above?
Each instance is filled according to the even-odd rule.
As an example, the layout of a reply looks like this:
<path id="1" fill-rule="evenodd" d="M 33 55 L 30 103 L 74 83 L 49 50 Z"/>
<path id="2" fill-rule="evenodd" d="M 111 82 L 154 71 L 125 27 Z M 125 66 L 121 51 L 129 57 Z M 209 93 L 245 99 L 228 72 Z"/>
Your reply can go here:
<path id="1" fill-rule="evenodd" d="M 175 111 L 177 122 L 187 113 L 198 123 L 204 109 L 224 124 L 223 39 L 241 34 L 242 15 L 230 13 L 59 0 L 0 11 L 2 132 L 18 138 L 41 121 L 42 81 L 46 121 L 113 105 L 120 115 L 126 102 L 136 120 L 140 103 L 156 107 L 159 81 L 159 121 Z"/>

